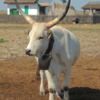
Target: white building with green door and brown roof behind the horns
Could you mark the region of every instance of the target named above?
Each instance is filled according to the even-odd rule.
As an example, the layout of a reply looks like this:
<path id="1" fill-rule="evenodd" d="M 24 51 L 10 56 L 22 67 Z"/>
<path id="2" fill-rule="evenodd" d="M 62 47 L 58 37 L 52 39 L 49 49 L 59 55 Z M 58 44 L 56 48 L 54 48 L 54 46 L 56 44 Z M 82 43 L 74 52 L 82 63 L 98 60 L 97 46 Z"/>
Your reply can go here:
<path id="1" fill-rule="evenodd" d="M 21 9 L 28 15 L 54 15 L 54 2 L 63 4 L 66 0 L 17 0 Z M 19 15 L 14 0 L 5 0 L 8 15 Z M 61 14 L 61 12 L 60 12 Z"/>

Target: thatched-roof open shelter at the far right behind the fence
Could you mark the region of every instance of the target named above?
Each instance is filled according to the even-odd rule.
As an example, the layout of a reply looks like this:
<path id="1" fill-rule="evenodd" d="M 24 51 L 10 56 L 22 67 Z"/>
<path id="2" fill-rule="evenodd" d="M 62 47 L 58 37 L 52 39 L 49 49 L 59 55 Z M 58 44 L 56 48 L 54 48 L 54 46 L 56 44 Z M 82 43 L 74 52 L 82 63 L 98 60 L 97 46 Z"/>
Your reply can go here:
<path id="1" fill-rule="evenodd" d="M 84 10 L 89 10 L 89 15 L 93 15 L 93 10 L 95 10 L 95 14 L 100 14 L 100 2 L 89 2 L 88 4 L 84 5 L 82 7 L 82 9 Z"/>

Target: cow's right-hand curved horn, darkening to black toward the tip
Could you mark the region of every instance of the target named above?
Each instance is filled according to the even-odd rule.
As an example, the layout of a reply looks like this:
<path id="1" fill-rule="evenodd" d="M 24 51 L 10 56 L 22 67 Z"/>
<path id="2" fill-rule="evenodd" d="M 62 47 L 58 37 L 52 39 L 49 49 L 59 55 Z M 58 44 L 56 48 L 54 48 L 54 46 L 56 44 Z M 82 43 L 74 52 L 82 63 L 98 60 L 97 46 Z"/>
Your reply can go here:
<path id="1" fill-rule="evenodd" d="M 68 9 L 69 9 L 69 6 L 70 6 L 70 1 L 71 0 L 68 0 L 68 3 L 67 3 L 67 6 L 66 6 L 66 9 L 65 11 L 62 13 L 62 15 L 58 16 L 57 18 L 55 18 L 53 21 L 50 21 L 48 23 L 45 23 L 45 26 L 47 28 L 51 28 L 53 27 L 54 25 L 58 24 L 67 14 L 68 12 Z"/>

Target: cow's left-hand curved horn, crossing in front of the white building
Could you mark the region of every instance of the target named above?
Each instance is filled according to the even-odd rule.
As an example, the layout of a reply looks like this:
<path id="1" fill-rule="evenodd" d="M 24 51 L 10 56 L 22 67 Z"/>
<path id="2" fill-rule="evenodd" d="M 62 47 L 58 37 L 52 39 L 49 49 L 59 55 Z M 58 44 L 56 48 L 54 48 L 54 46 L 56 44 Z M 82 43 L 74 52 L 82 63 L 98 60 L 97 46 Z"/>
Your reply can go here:
<path id="1" fill-rule="evenodd" d="M 22 9 L 20 8 L 20 6 L 19 6 L 18 3 L 17 3 L 17 0 L 15 0 L 15 4 L 16 4 L 17 9 L 18 9 L 19 12 L 21 13 L 21 15 L 26 19 L 26 21 L 27 21 L 29 24 L 33 25 L 33 24 L 35 23 L 35 21 L 34 21 L 30 16 L 28 16 L 27 14 L 25 14 L 25 13 L 22 11 Z"/>

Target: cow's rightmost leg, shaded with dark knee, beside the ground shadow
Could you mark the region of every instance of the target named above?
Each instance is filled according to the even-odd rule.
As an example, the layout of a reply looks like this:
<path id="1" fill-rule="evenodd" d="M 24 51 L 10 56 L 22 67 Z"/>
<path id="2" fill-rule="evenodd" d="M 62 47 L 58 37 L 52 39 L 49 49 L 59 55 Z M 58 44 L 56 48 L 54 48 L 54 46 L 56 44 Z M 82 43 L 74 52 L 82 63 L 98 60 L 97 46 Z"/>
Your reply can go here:
<path id="1" fill-rule="evenodd" d="M 66 71 L 64 71 L 64 80 L 62 87 L 64 89 L 64 99 L 69 100 L 68 88 L 69 88 L 69 79 L 71 75 L 71 67 L 69 67 Z"/>

